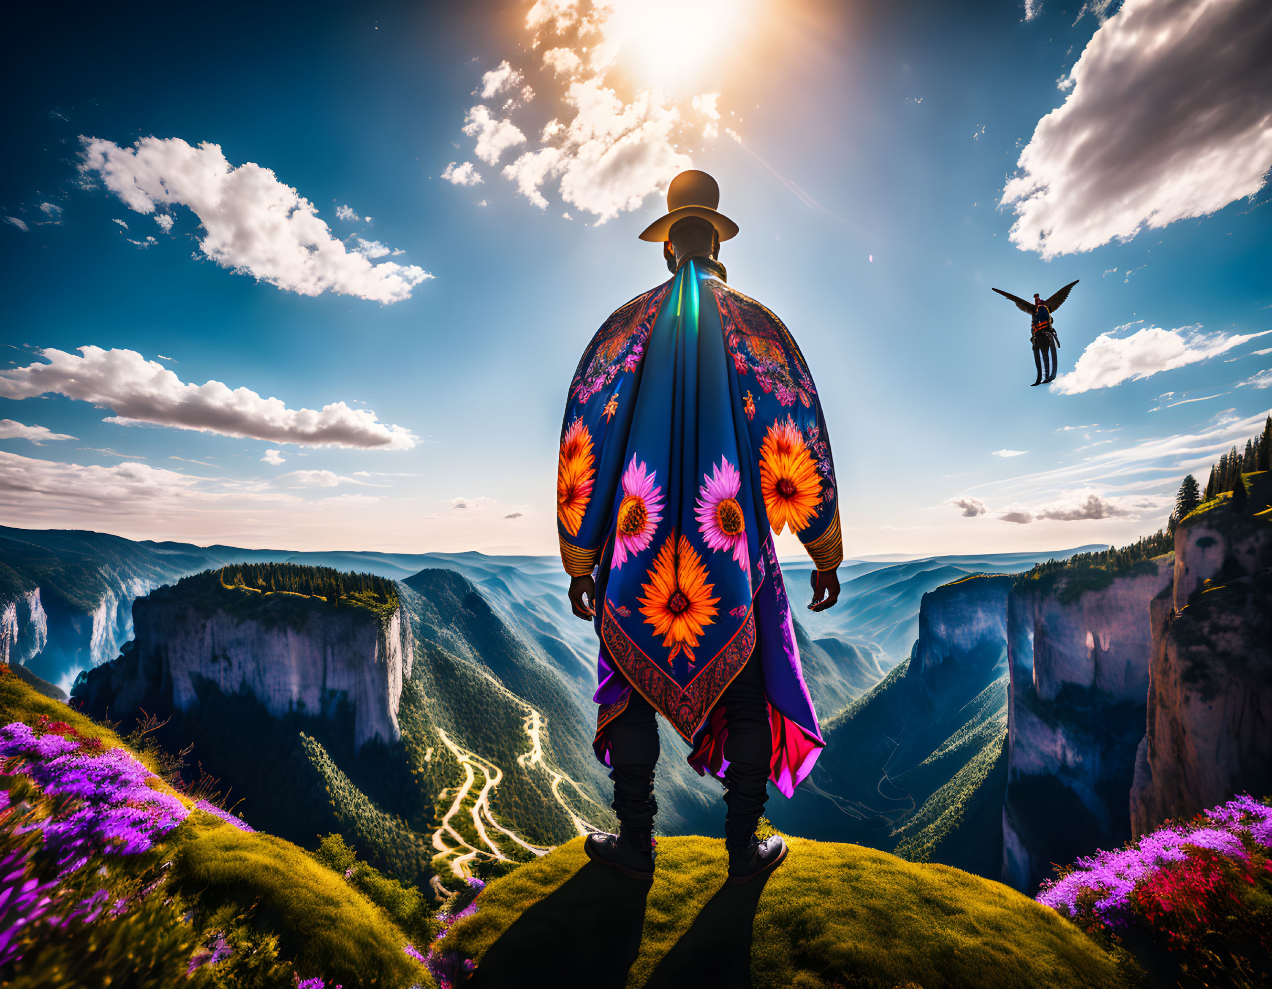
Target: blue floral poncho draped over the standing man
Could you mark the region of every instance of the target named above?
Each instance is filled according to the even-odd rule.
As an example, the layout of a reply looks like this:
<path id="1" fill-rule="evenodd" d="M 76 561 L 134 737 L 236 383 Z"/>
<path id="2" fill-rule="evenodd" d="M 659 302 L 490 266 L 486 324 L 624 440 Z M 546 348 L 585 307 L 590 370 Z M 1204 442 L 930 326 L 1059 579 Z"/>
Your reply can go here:
<path id="1" fill-rule="evenodd" d="M 691 258 L 622 306 L 570 385 L 557 473 L 561 559 L 597 570 L 597 755 L 639 690 L 722 775 L 724 689 L 758 650 L 786 796 L 820 750 L 773 531 L 818 570 L 843 558 L 834 465 L 786 327 Z"/>

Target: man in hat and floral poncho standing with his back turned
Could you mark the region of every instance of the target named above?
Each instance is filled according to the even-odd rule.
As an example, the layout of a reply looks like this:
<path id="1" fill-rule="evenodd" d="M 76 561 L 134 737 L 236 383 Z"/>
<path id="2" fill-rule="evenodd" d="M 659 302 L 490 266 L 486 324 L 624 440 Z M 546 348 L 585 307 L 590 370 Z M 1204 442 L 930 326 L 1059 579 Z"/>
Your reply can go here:
<path id="1" fill-rule="evenodd" d="M 786 796 L 824 742 L 804 684 L 773 536 L 790 529 L 817 570 L 820 611 L 840 596 L 838 487 L 826 419 L 782 322 L 726 283 L 720 242 L 738 226 L 720 187 L 682 172 L 663 244 L 670 281 L 614 311 L 579 361 L 557 473 L 570 605 L 600 638 L 597 758 L 619 831 L 588 856 L 654 876 L 660 713 L 689 765 L 724 781 L 730 882 L 778 866 L 759 842 L 767 781 Z"/>

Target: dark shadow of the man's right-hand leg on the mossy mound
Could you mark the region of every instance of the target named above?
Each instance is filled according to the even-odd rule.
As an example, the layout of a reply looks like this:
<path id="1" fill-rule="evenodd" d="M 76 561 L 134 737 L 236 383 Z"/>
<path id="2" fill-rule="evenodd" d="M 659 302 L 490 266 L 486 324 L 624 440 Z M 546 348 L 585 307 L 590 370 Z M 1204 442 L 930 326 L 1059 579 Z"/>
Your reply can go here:
<path id="1" fill-rule="evenodd" d="M 750 989 L 750 929 L 768 875 L 725 883 L 654 969 L 646 989 Z"/>

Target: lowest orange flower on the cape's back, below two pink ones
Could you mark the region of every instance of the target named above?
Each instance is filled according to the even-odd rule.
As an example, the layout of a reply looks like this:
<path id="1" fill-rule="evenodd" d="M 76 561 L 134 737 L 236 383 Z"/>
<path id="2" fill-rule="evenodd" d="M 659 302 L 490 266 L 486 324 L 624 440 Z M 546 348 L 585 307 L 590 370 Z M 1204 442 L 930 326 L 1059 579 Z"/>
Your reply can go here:
<path id="1" fill-rule="evenodd" d="M 719 613 L 719 597 L 712 597 L 714 583 L 707 583 L 707 571 L 702 559 L 689 545 L 689 540 L 672 533 L 654 558 L 649 570 L 649 583 L 642 583 L 644 605 L 640 613 L 645 624 L 654 627 L 654 634 L 663 637 L 663 647 L 670 648 L 668 662 L 682 651 L 695 662 L 693 650 L 702 629 L 714 624 Z"/>

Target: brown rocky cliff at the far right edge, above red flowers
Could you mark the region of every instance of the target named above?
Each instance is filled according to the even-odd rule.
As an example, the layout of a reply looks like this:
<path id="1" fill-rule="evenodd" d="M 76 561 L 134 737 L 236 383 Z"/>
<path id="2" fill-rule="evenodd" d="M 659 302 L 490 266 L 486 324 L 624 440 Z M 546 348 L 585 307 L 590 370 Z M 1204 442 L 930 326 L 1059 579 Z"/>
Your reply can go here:
<path id="1" fill-rule="evenodd" d="M 1268 486 L 1254 475 L 1252 487 Z M 1175 582 L 1155 601 L 1147 735 L 1136 760 L 1136 835 L 1272 792 L 1272 510 L 1230 503 L 1175 530 Z"/>

